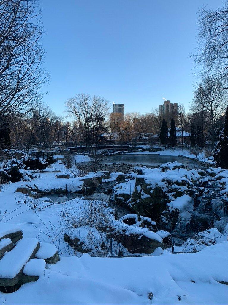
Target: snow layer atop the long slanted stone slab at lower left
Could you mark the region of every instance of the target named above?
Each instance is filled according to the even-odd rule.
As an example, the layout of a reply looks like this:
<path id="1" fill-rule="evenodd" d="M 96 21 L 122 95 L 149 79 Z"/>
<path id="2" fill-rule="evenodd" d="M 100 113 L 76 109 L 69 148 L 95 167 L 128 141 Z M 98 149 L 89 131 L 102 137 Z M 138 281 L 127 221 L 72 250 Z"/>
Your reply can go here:
<path id="1" fill-rule="evenodd" d="M 23 238 L 0 260 L 0 278 L 14 278 L 29 260 L 38 244 L 36 238 Z M 10 268 L 9 268 L 10 266 Z"/>

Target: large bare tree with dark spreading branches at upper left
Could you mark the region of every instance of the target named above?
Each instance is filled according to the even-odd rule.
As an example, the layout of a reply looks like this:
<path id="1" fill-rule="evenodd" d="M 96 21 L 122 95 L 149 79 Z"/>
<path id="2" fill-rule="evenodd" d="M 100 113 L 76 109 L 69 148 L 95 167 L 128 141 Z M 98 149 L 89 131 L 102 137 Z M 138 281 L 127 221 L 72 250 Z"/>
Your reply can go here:
<path id="1" fill-rule="evenodd" d="M 0 0 L 0 113 L 30 111 L 48 76 L 42 67 L 40 10 L 36 0 Z"/>

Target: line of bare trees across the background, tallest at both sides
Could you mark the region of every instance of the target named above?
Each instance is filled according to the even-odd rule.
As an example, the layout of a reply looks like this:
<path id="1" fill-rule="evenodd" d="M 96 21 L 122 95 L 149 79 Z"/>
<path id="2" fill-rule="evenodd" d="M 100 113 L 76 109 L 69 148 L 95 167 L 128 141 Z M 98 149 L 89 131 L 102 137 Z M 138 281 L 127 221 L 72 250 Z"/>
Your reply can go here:
<path id="1" fill-rule="evenodd" d="M 215 145 L 224 126 L 227 105 L 227 32 L 228 6 L 217 11 L 202 9 L 199 15 L 199 53 L 196 66 L 202 66 L 201 81 L 194 90 L 189 112 L 178 104 L 178 115 L 166 120 L 158 109 L 146 114 L 126 113 L 125 119 L 110 117 L 107 99 L 78 93 L 65 103 L 66 113 L 57 116 L 42 101 L 41 88 L 49 80 L 44 67 L 40 9 L 36 0 L 0 0 L 0 145 L 83 142 L 97 147 L 105 141 L 148 141 L 156 135 L 159 141 L 175 145 L 174 127 L 184 132 L 193 146 Z M 66 118 L 71 117 L 71 122 Z M 173 121 L 171 122 L 171 119 Z M 175 121 L 175 122 L 174 122 Z M 164 125 L 164 126 L 163 126 Z M 106 141 L 108 141 L 106 139 Z"/>

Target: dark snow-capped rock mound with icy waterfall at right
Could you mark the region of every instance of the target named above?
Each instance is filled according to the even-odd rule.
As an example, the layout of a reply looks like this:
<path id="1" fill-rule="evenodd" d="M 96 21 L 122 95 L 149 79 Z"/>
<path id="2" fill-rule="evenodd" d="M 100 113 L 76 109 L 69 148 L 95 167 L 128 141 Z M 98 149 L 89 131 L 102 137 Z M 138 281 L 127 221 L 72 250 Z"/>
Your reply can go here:
<path id="1" fill-rule="evenodd" d="M 181 163 L 168 162 L 154 169 L 135 167 L 134 171 L 113 187 L 111 202 L 126 205 L 133 213 L 155 220 L 159 228 L 175 233 L 191 234 L 214 225 L 224 229 L 228 170 L 188 170 Z"/>

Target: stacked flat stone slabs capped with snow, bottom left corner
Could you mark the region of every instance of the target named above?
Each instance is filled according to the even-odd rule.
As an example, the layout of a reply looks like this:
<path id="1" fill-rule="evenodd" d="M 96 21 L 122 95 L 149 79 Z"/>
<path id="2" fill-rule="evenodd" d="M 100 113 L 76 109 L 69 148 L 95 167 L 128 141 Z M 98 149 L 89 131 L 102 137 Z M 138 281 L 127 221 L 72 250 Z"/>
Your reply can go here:
<path id="1" fill-rule="evenodd" d="M 33 259 L 35 263 L 39 261 L 35 257 L 40 249 L 40 242 L 36 238 L 22 237 L 23 232 L 16 225 L 0 223 L 0 286 L 22 285 L 39 278 L 37 274 L 25 274 L 23 269 L 27 262 Z M 55 264 L 59 260 L 56 247 L 47 243 L 41 245 L 40 253 L 45 257 L 41 260 L 44 267 L 46 263 Z"/>

